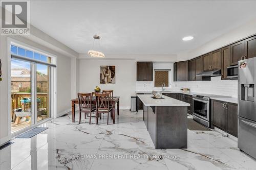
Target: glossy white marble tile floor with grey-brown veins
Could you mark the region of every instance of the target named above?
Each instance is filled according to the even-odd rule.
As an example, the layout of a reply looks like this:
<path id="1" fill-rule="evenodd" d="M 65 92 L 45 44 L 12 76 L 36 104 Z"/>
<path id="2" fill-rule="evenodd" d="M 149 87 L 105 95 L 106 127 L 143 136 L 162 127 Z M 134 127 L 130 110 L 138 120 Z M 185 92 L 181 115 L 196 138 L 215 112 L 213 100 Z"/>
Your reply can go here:
<path id="1" fill-rule="evenodd" d="M 76 120 L 78 115 L 76 115 Z M 71 114 L 52 119 L 30 139 L 14 139 L 0 151 L 0 169 L 256 169 L 256 160 L 217 131 L 188 130 L 187 149 L 156 150 L 142 112 L 120 110 L 116 124 Z"/>

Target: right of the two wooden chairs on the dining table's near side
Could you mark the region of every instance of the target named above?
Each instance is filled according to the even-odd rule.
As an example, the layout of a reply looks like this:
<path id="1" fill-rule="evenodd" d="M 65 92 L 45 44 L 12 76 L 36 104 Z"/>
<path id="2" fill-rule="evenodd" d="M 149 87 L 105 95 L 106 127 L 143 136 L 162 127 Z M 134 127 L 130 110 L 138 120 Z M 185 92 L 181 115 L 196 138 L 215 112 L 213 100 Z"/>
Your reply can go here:
<path id="1" fill-rule="evenodd" d="M 109 113 L 112 114 L 113 107 L 110 106 L 109 102 L 109 96 L 110 93 L 96 93 L 96 124 L 98 125 L 98 119 L 99 115 L 101 117 L 101 114 L 107 113 L 108 114 L 108 120 L 107 125 L 109 125 Z M 112 116 L 111 116 L 112 117 Z"/>

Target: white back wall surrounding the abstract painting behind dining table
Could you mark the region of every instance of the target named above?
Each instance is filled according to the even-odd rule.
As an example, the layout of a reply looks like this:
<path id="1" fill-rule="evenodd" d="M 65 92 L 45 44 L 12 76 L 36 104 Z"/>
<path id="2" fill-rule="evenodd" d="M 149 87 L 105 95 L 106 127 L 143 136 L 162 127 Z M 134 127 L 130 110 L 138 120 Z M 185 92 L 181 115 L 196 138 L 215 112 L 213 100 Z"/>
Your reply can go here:
<path id="1" fill-rule="evenodd" d="M 100 65 L 116 66 L 115 84 L 99 83 Z M 114 95 L 120 96 L 120 108 L 130 108 L 136 82 L 134 59 L 80 59 L 79 68 L 79 92 L 92 92 L 95 86 L 99 86 L 101 90 L 114 90 Z"/>

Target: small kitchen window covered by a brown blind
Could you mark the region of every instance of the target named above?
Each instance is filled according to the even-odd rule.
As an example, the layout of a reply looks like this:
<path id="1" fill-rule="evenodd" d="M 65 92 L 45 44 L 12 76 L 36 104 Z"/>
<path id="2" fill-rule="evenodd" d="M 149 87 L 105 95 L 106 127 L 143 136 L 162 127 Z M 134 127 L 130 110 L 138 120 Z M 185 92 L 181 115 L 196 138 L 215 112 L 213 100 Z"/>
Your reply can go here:
<path id="1" fill-rule="evenodd" d="M 155 70 L 155 87 L 169 86 L 169 71 L 168 70 Z"/>

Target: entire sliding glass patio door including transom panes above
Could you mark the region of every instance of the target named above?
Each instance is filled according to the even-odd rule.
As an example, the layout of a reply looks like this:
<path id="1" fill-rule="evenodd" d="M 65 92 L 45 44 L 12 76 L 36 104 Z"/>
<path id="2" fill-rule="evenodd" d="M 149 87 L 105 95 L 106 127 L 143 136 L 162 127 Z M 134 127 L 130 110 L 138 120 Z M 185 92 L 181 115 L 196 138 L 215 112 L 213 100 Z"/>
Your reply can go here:
<path id="1" fill-rule="evenodd" d="M 11 45 L 11 132 L 51 117 L 51 58 Z"/>

